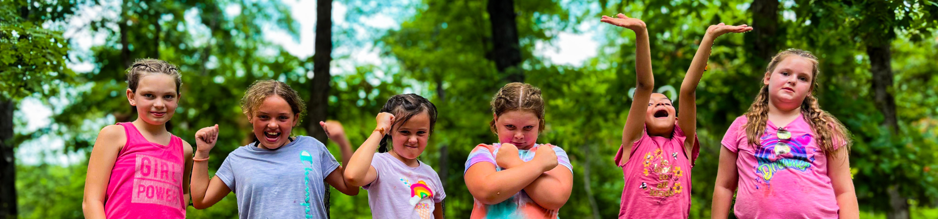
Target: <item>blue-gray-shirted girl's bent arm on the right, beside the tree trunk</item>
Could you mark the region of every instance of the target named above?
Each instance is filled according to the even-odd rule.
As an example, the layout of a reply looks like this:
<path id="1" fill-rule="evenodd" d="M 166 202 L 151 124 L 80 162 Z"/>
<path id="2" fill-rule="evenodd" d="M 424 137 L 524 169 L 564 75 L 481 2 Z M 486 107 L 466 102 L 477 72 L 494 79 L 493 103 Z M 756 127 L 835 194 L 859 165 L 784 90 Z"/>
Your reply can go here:
<path id="1" fill-rule="evenodd" d="M 342 124 L 339 123 L 339 121 L 331 120 L 328 122 L 319 122 L 319 125 L 323 126 L 325 135 L 339 145 L 339 151 L 342 156 L 342 166 L 332 170 L 328 176 L 325 176 L 325 183 L 329 183 L 342 194 L 357 196 L 358 186 L 352 185 L 345 181 L 344 167 L 348 167 L 349 160 L 352 159 L 352 144 L 349 142 L 348 137 L 345 136 L 345 128 L 342 127 Z"/>

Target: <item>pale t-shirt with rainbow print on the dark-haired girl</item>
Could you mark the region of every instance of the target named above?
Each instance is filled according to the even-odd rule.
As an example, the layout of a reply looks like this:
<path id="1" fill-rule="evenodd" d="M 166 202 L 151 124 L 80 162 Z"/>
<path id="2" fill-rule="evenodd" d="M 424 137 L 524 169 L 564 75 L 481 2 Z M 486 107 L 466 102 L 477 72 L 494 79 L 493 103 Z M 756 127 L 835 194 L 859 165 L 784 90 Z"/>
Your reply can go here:
<path id="1" fill-rule="evenodd" d="M 368 190 L 374 219 L 433 218 L 435 203 L 443 201 L 446 193 L 433 168 L 417 162 L 419 166 L 411 168 L 390 153 L 374 153 L 371 167 L 378 177 L 361 186 Z"/>

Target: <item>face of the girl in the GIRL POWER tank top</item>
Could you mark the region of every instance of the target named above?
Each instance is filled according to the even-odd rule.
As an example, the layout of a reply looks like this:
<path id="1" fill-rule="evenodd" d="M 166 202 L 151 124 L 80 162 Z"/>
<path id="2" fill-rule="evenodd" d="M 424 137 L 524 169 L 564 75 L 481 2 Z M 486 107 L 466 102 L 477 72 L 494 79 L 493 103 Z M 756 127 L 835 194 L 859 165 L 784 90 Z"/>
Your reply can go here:
<path id="1" fill-rule="evenodd" d="M 160 125 L 173 118 L 179 104 L 175 83 L 170 75 L 148 74 L 139 79 L 136 92 L 127 89 L 130 105 L 137 108 L 140 120 Z"/>

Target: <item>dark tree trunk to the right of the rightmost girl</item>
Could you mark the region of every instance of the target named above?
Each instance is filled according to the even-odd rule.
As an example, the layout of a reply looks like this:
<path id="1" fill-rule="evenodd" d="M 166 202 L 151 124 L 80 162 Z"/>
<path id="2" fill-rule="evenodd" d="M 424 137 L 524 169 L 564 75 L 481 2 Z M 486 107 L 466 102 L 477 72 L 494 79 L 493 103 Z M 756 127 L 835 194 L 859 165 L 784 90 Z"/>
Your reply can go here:
<path id="1" fill-rule="evenodd" d="M 870 71 L 872 72 L 873 101 L 876 109 L 883 113 L 883 124 L 893 135 L 899 130 L 896 118 L 896 99 L 892 96 L 892 51 L 889 42 L 892 40 L 868 40 L 867 55 L 870 56 Z M 909 203 L 907 198 L 899 191 L 899 183 L 893 183 L 886 189 L 889 197 L 888 219 L 908 219 Z"/>

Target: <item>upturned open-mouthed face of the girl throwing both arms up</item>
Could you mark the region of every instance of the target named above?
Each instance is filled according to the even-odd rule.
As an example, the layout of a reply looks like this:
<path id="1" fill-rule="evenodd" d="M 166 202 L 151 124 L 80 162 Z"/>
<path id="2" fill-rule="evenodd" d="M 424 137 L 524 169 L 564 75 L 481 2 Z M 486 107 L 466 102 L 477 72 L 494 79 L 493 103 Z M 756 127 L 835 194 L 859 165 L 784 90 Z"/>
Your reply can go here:
<path id="1" fill-rule="evenodd" d="M 671 136 L 677 113 L 668 96 L 660 93 L 651 94 L 648 109 L 645 111 L 645 128 L 649 136 Z"/>

